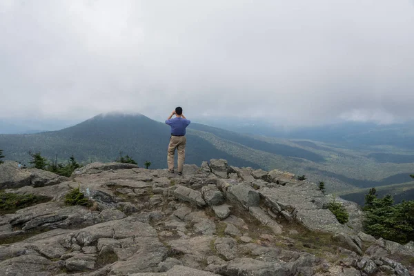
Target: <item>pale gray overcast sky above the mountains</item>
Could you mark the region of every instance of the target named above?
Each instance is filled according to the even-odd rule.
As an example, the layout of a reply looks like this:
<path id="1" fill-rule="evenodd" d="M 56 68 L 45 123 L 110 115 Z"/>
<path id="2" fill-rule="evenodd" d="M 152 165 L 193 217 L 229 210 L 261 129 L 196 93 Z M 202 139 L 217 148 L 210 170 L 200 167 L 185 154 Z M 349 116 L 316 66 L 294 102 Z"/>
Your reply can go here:
<path id="1" fill-rule="evenodd" d="M 0 0 L 0 119 L 414 119 L 413 0 Z"/>

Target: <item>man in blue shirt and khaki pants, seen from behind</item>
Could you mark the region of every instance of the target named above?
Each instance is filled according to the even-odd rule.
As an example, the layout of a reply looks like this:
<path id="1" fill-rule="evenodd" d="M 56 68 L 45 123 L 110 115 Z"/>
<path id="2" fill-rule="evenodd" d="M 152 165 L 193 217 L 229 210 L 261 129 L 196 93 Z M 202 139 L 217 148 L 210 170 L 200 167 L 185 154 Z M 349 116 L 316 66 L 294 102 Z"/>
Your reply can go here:
<path id="1" fill-rule="evenodd" d="M 171 119 L 172 116 L 176 116 Z M 168 171 L 174 173 L 174 155 L 175 149 L 178 152 L 178 175 L 183 174 L 184 160 L 186 159 L 186 127 L 190 120 L 183 115 L 183 109 L 180 107 L 172 111 L 170 117 L 166 119 L 166 124 L 171 127 L 170 144 L 168 145 Z"/>

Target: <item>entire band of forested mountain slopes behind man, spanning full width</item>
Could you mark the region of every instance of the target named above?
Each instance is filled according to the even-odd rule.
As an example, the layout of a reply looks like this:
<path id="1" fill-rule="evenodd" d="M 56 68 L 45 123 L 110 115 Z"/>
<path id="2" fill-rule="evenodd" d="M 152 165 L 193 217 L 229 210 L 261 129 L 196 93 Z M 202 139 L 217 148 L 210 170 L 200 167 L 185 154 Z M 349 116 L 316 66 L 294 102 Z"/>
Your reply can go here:
<path id="1" fill-rule="evenodd" d="M 144 115 L 110 113 L 63 130 L 0 135 L 0 148 L 6 159 L 23 164 L 30 161 L 29 150 L 41 151 L 48 159 L 57 156 L 60 161 L 75 155 L 83 163 L 114 161 L 123 152 L 140 166 L 148 160 L 152 162 L 151 168 L 166 168 L 169 137 L 169 126 L 164 123 Z M 409 175 L 414 172 L 414 150 L 394 146 L 353 147 L 327 141 L 281 139 L 195 122 L 187 129 L 187 139 L 186 164 L 200 165 L 202 161 L 222 158 L 238 167 L 277 168 L 306 175 L 316 183 L 324 181 L 329 193 L 404 184 L 412 180 Z M 403 192 L 406 190 L 395 190 Z"/>

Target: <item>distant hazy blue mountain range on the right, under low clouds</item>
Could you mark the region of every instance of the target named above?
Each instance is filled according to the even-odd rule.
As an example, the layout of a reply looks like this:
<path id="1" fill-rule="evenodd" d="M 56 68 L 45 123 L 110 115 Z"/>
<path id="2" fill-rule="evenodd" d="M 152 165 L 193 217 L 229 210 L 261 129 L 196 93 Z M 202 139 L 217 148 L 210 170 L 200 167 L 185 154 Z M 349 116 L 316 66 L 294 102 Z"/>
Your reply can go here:
<path id="1" fill-rule="evenodd" d="M 364 149 L 366 146 L 395 146 L 414 150 L 414 121 L 379 125 L 345 121 L 324 126 L 275 126 L 275 122 L 258 119 L 204 119 L 209 126 L 240 133 L 266 135 L 284 139 L 308 139 Z M 399 158 L 399 157 L 397 157 Z M 404 157 L 402 157 L 404 161 Z"/>

